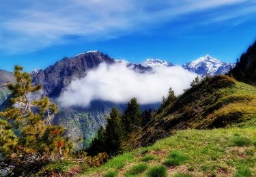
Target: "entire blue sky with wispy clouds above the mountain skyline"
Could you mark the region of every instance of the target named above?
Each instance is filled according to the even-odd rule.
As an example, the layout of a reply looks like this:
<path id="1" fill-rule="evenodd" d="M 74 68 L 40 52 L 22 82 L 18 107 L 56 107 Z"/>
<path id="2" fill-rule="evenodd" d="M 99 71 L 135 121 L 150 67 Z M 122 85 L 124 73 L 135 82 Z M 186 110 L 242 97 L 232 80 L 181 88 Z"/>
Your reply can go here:
<path id="1" fill-rule="evenodd" d="M 254 0 L 0 0 L 1 69 L 44 69 L 100 50 L 176 65 L 210 54 L 235 62 L 256 39 Z"/>

